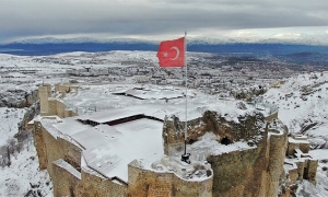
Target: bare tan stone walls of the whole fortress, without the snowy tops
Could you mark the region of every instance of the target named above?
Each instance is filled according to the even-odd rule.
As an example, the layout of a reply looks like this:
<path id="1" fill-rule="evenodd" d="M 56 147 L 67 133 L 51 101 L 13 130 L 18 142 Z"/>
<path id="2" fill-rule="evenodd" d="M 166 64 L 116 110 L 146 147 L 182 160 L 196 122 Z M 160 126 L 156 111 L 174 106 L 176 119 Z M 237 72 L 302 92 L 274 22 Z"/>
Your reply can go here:
<path id="1" fill-rule="evenodd" d="M 60 118 L 78 116 L 68 109 L 60 97 L 77 86 L 56 84 L 57 94 L 54 97 L 51 86 L 39 86 L 40 112 L 43 118 Z M 56 118 L 56 116 L 60 118 Z M 268 123 L 274 117 L 267 117 Z M 208 114 L 200 119 L 188 121 L 188 142 L 197 140 L 207 130 L 213 130 L 218 141 L 227 138 L 231 141 L 248 140 L 254 149 L 232 151 L 207 158 L 211 166 L 210 178 L 199 182 L 186 181 L 173 172 L 156 172 L 139 165 L 132 161 L 128 167 L 128 183 L 107 178 L 97 172 L 81 167 L 83 148 L 70 137 L 54 135 L 59 132 L 49 125 L 34 121 L 34 139 L 39 158 L 40 170 L 47 169 L 54 183 L 55 196 L 290 196 L 290 186 L 297 179 L 307 178 L 315 184 L 317 161 L 308 158 L 309 150 L 306 140 L 290 140 L 286 128 L 283 132 L 274 128 L 267 128 L 260 139 L 255 139 L 258 130 L 249 129 L 248 121 L 242 126 L 235 125 L 242 136 L 234 136 L 229 128 L 224 128 L 222 119 L 215 119 L 215 114 Z M 201 125 L 199 123 L 207 123 Z M 213 124 L 214 123 L 214 124 Z M 183 125 L 178 119 L 166 119 L 163 128 L 164 152 L 176 149 L 184 141 L 181 132 L 174 132 L 176 125 Z M 46 129 L 46 128 L 48 129 Z M 248 130 L 243 130 L 243 128 Z M 281 130 L 281 129 L 280 129 Z M 249 135 L 253 134 L 253 135 Z M 56 136 L 56 137 L 54 137 Z M 285 159 L 285 155 L 294 158 Z M 296 158 L 296 159 L 295 159 Z M 281 183 L 285 181 L 284 185 Z M 283 189 L 282 189 L 283 187 Z M 281 193 L 284 190 L 284 193 Z"/>

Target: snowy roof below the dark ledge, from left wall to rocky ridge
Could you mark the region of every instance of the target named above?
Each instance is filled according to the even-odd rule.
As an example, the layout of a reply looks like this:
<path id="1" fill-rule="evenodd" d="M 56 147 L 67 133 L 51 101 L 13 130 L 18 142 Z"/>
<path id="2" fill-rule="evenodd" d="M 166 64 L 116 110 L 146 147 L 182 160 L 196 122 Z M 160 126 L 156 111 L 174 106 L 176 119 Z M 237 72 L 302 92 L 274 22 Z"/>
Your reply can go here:
<path id="1" fill-rule="evenodd" d="M 62 123 L 43 121 L 52 124 L 52 127 L 47 126 L 52 135 L 68 135 L 83 147 L 87 166 L 109 178 L 116 176 L 127 182 L 131 161 L 144 159 L 154 162 L 164 155 L 163 123 L 159 120 L 141 118 L 115 126 L 95 127 L 74 118 L 65 118 Z"/>

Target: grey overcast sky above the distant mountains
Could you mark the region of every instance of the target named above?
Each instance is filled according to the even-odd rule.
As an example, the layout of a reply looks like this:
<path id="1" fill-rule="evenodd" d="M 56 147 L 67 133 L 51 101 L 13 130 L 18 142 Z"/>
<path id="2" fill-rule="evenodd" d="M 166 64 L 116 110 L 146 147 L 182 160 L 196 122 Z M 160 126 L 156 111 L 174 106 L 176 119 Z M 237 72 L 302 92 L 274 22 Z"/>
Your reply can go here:
<path id="1" fill-rule="evenodd" d="M 0 43 L 32 37 L 328 40 L 327 0 L 0 0 Z"/>

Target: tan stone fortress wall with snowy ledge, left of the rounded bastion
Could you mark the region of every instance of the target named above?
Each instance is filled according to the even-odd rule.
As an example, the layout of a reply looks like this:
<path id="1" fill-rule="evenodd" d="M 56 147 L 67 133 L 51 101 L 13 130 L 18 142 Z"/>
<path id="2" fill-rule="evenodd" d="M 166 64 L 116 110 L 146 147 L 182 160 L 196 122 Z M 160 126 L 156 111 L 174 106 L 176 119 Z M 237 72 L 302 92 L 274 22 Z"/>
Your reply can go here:
<path id="1" fill-rule="evenodd" d="M 49 129 L 49 127 L 47 127 Z M 127 186 L 112 182 L 94 171 L 81 169 L 83 148 L 69 137 L 54 137 L 56 128 L 48 131 L 34 121 L 34 138 L 40 170 L 47 169 L 54 184 L 55 196 L 125 196 Z"/>

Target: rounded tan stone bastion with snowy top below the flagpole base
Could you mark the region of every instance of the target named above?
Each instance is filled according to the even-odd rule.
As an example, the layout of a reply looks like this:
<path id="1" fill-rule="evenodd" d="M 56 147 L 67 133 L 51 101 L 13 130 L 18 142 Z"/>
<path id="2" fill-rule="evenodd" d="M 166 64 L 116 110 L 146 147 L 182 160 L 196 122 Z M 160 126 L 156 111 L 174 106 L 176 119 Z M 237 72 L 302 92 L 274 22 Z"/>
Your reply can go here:
<path id="1" fill-rule="evenodd" d="M 167 157 L 155 163 L 134 160 L 128 172 L 130 196 L 212 196 L 213 172 L 209 164 L 189 165 Z"/>

